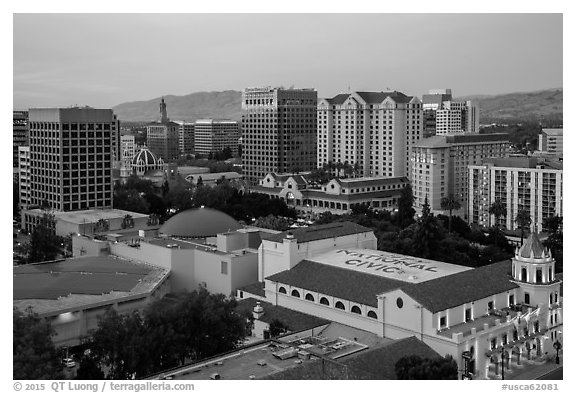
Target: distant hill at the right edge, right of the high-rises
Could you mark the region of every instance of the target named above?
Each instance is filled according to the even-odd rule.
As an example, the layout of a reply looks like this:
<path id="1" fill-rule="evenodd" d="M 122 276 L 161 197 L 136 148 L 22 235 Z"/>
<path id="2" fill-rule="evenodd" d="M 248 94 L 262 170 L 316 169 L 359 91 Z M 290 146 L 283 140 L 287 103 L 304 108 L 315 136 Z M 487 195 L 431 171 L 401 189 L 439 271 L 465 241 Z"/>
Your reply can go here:
<path id="1" fill-rule="evenodd" d="M 484 124 L 507 120 L 562 124 L 562 88 L 528 93 L 458 97 L 457 99 L 477 101 L 480 104 L 480 123 Z"/>

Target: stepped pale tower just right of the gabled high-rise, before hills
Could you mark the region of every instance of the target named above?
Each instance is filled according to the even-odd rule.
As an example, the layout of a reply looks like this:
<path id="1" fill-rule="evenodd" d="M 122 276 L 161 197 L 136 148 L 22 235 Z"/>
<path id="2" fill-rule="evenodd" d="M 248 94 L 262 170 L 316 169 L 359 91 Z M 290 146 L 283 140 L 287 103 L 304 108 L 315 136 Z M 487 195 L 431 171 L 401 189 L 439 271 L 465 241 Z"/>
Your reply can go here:
<path id="1" fill-rule="evenodd" d="M 422 96 L 424 138 L 480 131 L 480 107 L 475 101 L 455 101 L 451 89 L 430 90 Z"/>

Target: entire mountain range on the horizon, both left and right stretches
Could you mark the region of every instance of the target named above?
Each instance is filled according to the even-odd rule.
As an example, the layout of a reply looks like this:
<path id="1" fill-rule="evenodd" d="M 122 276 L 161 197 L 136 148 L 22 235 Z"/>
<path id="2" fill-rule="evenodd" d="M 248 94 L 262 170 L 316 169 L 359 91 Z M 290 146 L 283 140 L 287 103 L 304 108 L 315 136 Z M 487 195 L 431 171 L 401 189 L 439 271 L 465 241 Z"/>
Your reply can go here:
<path id="1" fill-rule="evenodd" d="M 480 123 L 551 120 L 562 123 L 563 89 L 548 89 L 499 95 L 458 97 L 480 104 Z M 115 106 L 121 121 L 155 121 L 159 118 L 161 97 L 148 101 L 126 102 Z M 197 119 L 242 118 L 242 93 L 235 90 L 164 96 L 168 117 L 193 122 Z"/>

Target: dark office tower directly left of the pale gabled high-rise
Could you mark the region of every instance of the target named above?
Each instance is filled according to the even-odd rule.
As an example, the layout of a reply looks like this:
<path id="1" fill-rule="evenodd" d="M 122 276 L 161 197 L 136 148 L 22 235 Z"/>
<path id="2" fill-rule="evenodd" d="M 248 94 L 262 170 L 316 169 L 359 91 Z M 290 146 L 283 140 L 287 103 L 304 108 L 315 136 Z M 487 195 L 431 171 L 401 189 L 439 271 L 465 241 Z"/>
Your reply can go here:
<path id="1" fill-rule="evenodd" d="M 248 88 L 242 92 L 242 161 L 253 185 L 270 172 L 316 167 L 314 89 Z"/>

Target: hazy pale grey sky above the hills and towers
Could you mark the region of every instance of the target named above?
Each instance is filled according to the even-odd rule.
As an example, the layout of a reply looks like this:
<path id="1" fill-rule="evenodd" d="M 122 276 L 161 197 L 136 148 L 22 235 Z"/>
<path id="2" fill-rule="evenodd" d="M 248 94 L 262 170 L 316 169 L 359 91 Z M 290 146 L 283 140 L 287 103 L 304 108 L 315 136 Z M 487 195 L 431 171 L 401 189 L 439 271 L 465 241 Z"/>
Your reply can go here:
<path id="1" fill-rule="evenodd" d="M 562 14 L 15 14 L 14 109 L 252 86 L 562 87 Z"/>

